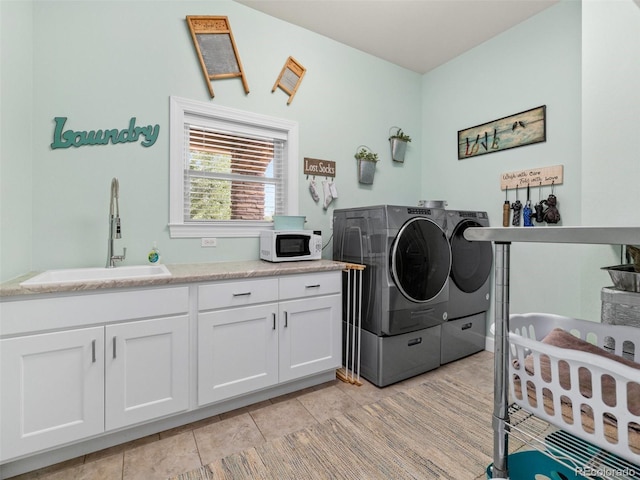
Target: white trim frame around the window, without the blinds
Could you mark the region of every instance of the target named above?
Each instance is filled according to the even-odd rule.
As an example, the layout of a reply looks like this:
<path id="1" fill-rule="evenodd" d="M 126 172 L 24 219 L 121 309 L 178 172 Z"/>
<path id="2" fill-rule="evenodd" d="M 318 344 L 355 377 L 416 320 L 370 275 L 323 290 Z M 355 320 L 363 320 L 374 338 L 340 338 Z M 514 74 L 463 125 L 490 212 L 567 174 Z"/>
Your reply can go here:
<path id="1" fill-rule="evenodd" d="M 298 213 L 298 123 L 281 118 L 246 112 L 230 107 L 181 97 L 169 97 L 169 235 L 171 238 L 258 237 L 261 230 L 273 228 L 273 222 L 233 220 L 226 222 L 184 221 L 184 124 L 186 115 L 199 115 L 218 121 L 248 124 L 282 131 L 287 137 L 286 214 Z M 232 223 L 233 222 L 233 223 Z"/>

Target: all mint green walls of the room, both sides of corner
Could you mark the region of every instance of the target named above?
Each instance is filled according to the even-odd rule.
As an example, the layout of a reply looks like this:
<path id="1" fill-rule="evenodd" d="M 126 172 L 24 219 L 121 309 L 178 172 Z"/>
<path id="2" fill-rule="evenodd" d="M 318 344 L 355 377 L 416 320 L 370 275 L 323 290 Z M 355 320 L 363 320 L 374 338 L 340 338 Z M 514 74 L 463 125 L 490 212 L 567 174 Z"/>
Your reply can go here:
<path id="1" fill-rule="evenodd" d="M 229 17 L 249 95 L 239 80 L 217 81 L 209 99 L 188 14 Z M 298 121 L 299 161 L 338 163 L 340 197 L 332 207 L 445 199 L 451 208 L 486 210 L 499 225 L 500 173 L 562 164 L 565 183 L 556 193 L 564 225 L 638 225 L 640 162 L 624 139 L 640 131 L 639 17 L 632 0 L 606 8 L 565 0 L 419 76 L 229 0 L 1 0 L 1 280 L 102 265 L 113 176 L 121 184 L 119 247 L 128 247 L 127 263 L 142 262 L 154 240 L 168 263 L 256 257 L 253 239 L 219 239 L 213 249 L 199 239 L 169 239 L 170 95 Z M 287 106 L 285 94 L 271 88 L 289 55 L 308 72 Z M 546 143 L 457 160 L 459 129 L 542 104 Z M 160 124 L 160 138 L 147 149 L 52 151 L 55 116 L 84 130 L 124 128 L 136 116 Z M 404 164 L 389 158 L 393 125 L 414 139 Z M 359 144 L 382 157 L 372 187 L 356 180 Z M 331 210 L 313 203 L 302 173 L 298 180 L 300 212 L 328 239 Z M 618 255 L 612 247 L 514 245 L 512 309 L 597 319 L 600 288 L 609 284 L 599 267 L 619 263 Z"/>

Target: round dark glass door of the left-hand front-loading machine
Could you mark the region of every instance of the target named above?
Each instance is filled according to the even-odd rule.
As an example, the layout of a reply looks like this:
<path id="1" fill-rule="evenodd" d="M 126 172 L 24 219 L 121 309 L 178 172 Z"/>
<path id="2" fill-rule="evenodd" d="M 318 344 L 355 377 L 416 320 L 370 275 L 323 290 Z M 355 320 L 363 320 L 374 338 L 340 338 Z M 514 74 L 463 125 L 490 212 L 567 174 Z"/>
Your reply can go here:
<path id="1" fill-rule="evenodd" d="M 391 247 L 393 281 L 413 302 L 428 302 L 447 284 L 451 247 L 432 220 L 416 217 L 405 223 Z"/>

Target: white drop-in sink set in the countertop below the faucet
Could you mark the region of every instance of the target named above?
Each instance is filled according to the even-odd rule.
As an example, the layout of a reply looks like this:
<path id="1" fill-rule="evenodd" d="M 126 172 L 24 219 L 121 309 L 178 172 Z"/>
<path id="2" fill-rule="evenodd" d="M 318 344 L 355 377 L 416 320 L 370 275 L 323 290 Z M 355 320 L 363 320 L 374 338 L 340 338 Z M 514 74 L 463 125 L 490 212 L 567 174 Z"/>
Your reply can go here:
<path id="1" fill-rule="evenodd" d="M 84 283 L 101 280 L 127 280 L 169 277 L 171 272 L 165 265 L 131 265 L 114 268 L 69 268 L 47 270 L 22 282 L 24 287 L 55 285 L 58 283 Z"/>

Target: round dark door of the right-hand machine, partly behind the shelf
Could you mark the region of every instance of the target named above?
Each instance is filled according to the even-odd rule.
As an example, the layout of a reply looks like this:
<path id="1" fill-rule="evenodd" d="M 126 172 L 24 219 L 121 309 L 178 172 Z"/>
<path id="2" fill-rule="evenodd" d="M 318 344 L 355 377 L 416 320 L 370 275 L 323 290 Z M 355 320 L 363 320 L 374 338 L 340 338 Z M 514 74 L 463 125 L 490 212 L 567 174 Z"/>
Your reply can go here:
<path id="1" fill-rule="evenodd" d="M 481 226 L 474 220 L 463 220 L 451 235 L 451 279 L 465 293 L 478 290 L 491 274 L 491 242 L 470 242 L 463 235 L 467 228 Z"/>

